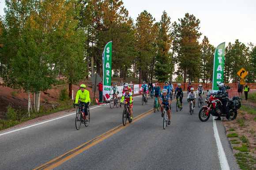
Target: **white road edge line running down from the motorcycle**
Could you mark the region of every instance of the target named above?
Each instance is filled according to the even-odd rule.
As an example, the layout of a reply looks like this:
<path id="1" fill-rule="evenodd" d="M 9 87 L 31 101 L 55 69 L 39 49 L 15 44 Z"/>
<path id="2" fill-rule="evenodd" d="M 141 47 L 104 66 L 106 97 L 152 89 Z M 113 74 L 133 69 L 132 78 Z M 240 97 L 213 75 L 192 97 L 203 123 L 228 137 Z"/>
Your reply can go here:
<path id="1" fill-rule="evenodd" d="M 212 119 L 212 122 L 213 122 L 214 136 L 215 136 L 215 140 L 216 140 L 217 147 L 218 147 L 218 159 L 219 159 L 221 169 L 222 170 L 230 170 L 230 166 L 227 161 L 226 154 L 224 152 L 222 143 L 221 143 L 219 135 L 218 135 L 218 129 L 217 129 L 217 125 L 216 125 L 216 121 L 215 121 L 214 117 Z"/>

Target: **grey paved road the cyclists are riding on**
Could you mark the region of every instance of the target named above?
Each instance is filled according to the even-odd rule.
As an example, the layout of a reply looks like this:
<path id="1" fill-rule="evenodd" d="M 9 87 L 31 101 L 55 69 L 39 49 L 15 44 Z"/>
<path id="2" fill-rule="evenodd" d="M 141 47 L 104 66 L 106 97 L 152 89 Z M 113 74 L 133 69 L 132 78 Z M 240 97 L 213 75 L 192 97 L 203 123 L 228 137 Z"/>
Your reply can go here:
<path id="1" fill-rule="evenodd" d="M 187 94 L 185 94 L 187 95 Z M 163 129 L 153 99 L 134 98 L 133 122 L 122 125 L 123 108 L 90 108 L 90 125 L 75 129 L 75 113 L 0 133 L 0 170 L 28 169 L 223 169 L 218 157 L 212 116 L 207 122 L 172 102 L 171 125 Z M 238 170 L 222 121 L 216 122 L 230 170 Z M 8 134 L 6 134 L 8 132 Z M 11 132 L 11 133 L 10 133 Z"/>

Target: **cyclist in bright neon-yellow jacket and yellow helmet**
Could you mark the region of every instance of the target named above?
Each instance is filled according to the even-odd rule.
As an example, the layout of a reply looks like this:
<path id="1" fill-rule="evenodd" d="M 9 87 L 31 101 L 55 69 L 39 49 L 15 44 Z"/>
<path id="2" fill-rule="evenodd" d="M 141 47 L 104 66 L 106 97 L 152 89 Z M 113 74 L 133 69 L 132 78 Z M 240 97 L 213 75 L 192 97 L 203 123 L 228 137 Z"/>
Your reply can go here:
<path id="1" fill-rule="evenodd" d="M 83 119 L 84 119 L 84 123 L 88 123 L 87 108 L 90 105 L 90 94 L 89 94 L 89 91 L 85 89 L 86 88 L 85 84 L 81 84 L 79 88 L 80 90 L 77 91 L 75 96 L 75 104 L 78 104 L 79 98 L 80 98 L 80 104 L 85 104 L 85 108 L 82 108 L 82 113 L 84 113 L 84 109 L 85 109 L 85 114 L 83 114 Z"/>

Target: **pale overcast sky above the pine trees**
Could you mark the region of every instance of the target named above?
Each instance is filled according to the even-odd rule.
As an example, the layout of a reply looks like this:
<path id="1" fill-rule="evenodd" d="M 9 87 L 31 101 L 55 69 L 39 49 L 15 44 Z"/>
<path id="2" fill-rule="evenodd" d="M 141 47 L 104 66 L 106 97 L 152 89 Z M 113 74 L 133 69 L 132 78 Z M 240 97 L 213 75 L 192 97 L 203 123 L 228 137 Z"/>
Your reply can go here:
<path id="1" fill-rule="evenodd" d="M 124 7 L 136 22 L 138 15 L 146 10 L 161 20 L 165 10 L 171 22 L 178 22 L 185 13 L 200 20 L 200 32 L 217 47 L 220 43 L 235 43 L 238 39 L 247 45 L 256 45 L 256 0 L 123 0 Z M 4 0 L 0 0 L 0 15 L 4 15 Z M 178 22 L 179 23 L 179 22 Z"/>

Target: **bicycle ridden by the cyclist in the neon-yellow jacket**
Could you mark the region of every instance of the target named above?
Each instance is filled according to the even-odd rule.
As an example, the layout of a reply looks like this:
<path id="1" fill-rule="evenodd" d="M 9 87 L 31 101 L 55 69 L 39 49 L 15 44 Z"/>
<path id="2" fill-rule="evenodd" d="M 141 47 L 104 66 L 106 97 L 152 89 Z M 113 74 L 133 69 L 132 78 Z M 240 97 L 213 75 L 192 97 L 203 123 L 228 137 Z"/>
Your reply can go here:
<path id="1" fill-rule="evenodd" d="M 75 116 L 75 128 L 77 130 L 79 130 L 80 126 L 81 126 L 81 123 L 84 123 L 84 125 L 86 127 L 89 126 L 89 123 L 90 123 L 90 109 L 89 107 L 87 108 L 87 112 L 88 112 L 88 121 L 87 123 L 84 122 L 84 119 L 83 119 L 83 114 L 82 114 L 82 108 L 85 106 L 85 104 L 74 104 L 73 103 L 73 107 L 75 108 L 75 105 L 78 106 L 77 109 L 76 109 L 76 116 Z"/>

